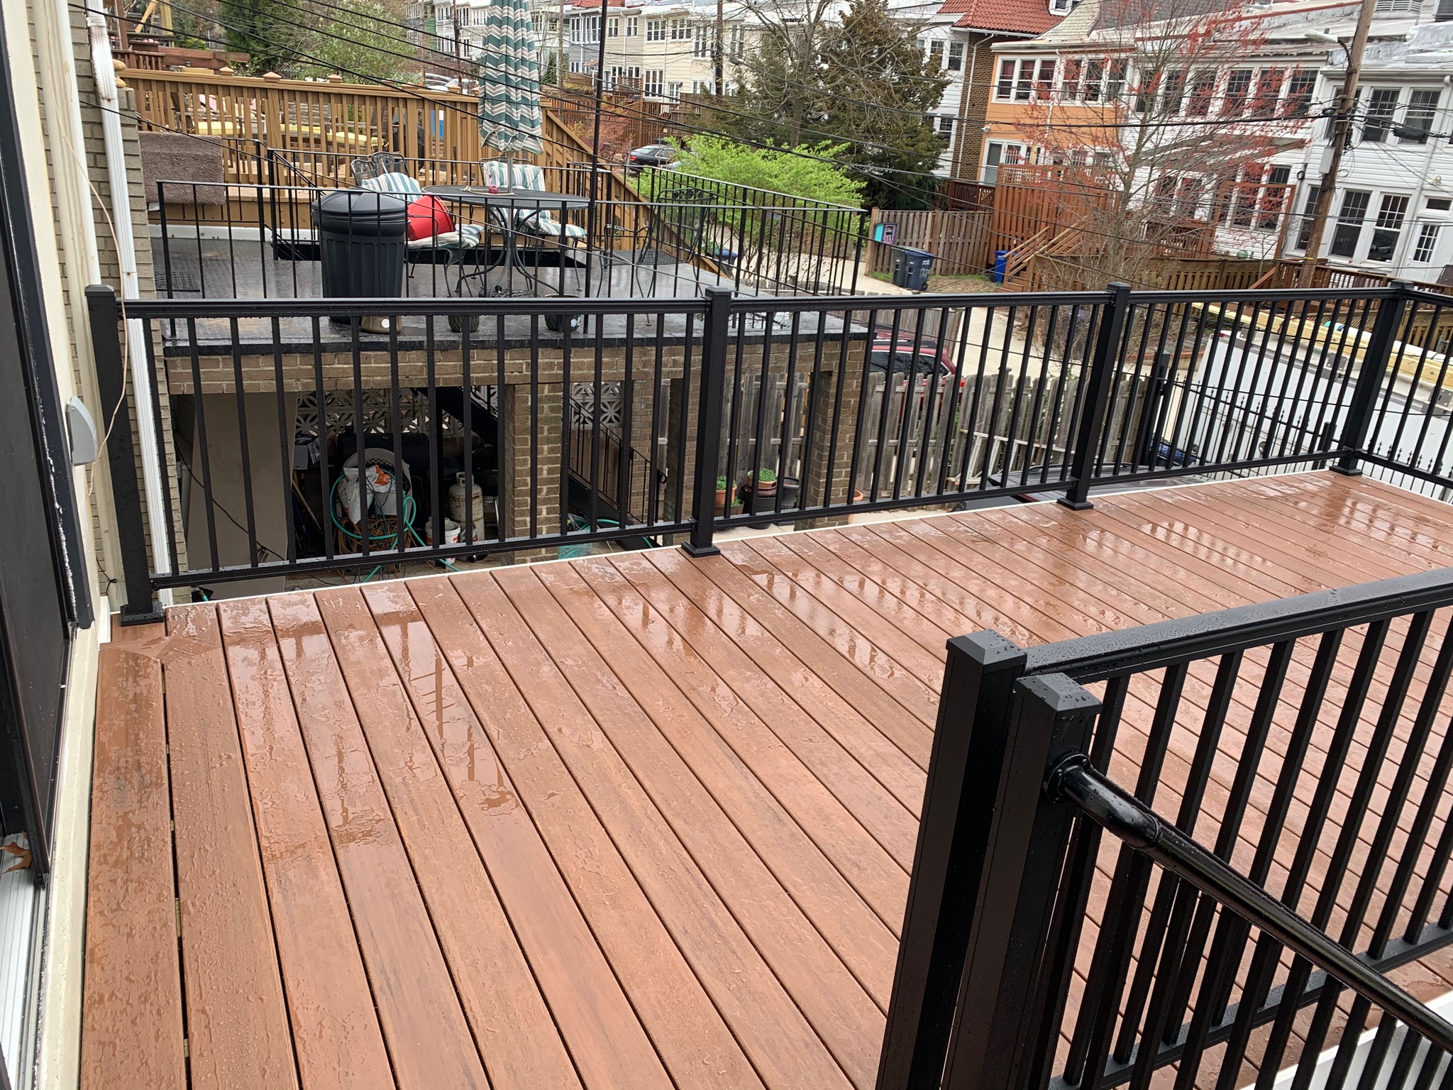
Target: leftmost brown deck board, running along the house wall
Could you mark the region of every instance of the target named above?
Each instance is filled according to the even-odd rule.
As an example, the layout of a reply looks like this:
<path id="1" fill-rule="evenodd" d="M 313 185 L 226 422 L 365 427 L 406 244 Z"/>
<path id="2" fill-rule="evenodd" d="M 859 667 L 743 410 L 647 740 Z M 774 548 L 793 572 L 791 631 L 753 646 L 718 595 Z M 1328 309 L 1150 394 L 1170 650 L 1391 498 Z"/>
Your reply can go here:
<path id="1" fill-rule="evenodd" d="M 141 638 L 151 647 L 134 650 Z M 81 1090 L 186 1089 L 160 642 L 147 625 L 100 650 Z"/>

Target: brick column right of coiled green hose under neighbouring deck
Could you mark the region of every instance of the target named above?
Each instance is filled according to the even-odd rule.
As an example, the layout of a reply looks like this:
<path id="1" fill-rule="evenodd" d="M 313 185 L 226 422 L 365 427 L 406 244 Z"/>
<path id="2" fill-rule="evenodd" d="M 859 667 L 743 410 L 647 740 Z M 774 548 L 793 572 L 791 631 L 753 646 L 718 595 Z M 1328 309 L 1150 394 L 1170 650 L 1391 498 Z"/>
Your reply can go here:
<path id="1" fill-rule="evenodd" d="M 535 528 L 552 533 L 559 528 L 561 494 L 561 405 L 562 387 L 542 382 L 538 414 L 532 426 L 532 389 L 527 382 L 504 387 L 500 413 L 504 445 L 500 448 L 500 529 L 507 538 L 530 532 L 530 509 L 535 503 Z M 530 490 L 530 469 L 535 469 L 535 490 Z M 520 549 L 513 555 L 520 564 L 530 560 L 551 560 L 554 548 Z"/>

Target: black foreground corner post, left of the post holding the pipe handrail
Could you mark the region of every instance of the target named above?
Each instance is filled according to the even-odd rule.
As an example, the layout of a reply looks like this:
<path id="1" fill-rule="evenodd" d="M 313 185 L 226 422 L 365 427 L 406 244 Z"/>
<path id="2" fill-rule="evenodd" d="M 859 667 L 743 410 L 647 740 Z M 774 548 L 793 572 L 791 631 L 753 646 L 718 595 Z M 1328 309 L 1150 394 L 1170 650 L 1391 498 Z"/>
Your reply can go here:
<path id="1" fill-rule="evenodd" d="M 997 632 L 949 641 L 878 1090 L 939 1086 L 1023 673 Z"/>

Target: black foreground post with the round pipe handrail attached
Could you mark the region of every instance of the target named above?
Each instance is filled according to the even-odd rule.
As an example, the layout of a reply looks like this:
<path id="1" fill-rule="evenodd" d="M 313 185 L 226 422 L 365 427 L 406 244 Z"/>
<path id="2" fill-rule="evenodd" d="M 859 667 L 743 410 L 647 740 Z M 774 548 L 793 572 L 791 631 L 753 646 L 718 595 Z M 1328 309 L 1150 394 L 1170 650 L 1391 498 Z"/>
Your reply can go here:
<path id="1" fill-rule="evenodd" d="M 992 847 L 963 962 L 946 1090 L 1030 1086 L 1029 1070 L 1045 1068 L 1053 1055 L 1053 1028 L 1045 1022 L 1056 1006 L 1036 998 L 1075 811 L 1045 792 L 1045 778 L 1065 757 L 1090 747 L 1098 715 L 1100 699 L 1065 674 L 1014 685 Z"/>

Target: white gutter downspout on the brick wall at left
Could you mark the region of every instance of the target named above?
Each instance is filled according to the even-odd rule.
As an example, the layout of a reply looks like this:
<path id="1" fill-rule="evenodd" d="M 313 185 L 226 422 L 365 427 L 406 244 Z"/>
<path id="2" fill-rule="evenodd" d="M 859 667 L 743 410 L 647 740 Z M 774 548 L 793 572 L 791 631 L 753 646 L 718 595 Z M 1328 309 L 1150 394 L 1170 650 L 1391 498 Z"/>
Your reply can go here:
<path id="1" fill-rule="evenodd" d="M 58 0 L 64 3 L 65 0 Z M 126 150 L 121 132 L 121 100 L 116 96 L 116 67 L 110 55 L 110 39 L 106 36 L 106 16 L 94 9 L 86 12 L 86 26 L 90 31 L 92 71 L 96 77 L 96 94 L 100 99 L 100 129 L 106 145 L 106 180 L 110 185 L 110 225 L 116 233 L 116 260 L 121 265 L 122 314 L 126 299 L 141 298 L 141 283 L 137 279 L 137 240 L 131 222 L 131 189 L 126 183 Z M 99 273 L 99 270 L 97 270 Z M 167 541 L 164 504 L 167 490 L 161 474 L 161 456 L 157 451 L 157 424 L 153 413 L 151 376 L 147 374 L 148 353 L 147 330 L 141 318 L 126 318 L 126 343 L 131 358 L 131 389 L 137 407 L 137 433 L 141 437 L 141 475 L 147 493 L 147 522 L 151 530 L 151 562 L 157 573 L 171 571 L 171 549 Z M 161 605 L 171 605 L 170 590 L 163 590 Z"/>

